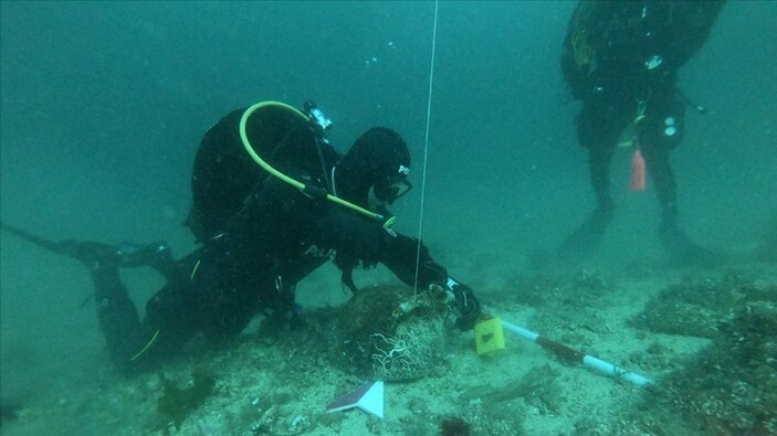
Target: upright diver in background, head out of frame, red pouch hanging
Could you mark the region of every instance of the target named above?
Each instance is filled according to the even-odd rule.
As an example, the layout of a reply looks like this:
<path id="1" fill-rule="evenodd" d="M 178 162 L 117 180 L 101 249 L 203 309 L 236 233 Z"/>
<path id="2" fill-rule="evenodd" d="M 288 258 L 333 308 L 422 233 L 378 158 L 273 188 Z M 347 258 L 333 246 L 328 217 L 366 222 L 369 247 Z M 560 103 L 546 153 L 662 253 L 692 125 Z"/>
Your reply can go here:
<path id="1" fill-rule="evenodd" d="M 580 1 L 564 41 L 561 70 L 574 98 L 580 146 L 588 149 L 598 208 L 561 246 L 595 247 L 612 221 L 610 160 L 632 125 L 662 209 L 661 241 L 670 258 L 703 262 L 710 254 L 681 231 L 669 152 L 680 145 L 687 102 L 678 70 L 704 44 L 723 1 Z M 696 107 L 702 111 L 703 109 Z"/>

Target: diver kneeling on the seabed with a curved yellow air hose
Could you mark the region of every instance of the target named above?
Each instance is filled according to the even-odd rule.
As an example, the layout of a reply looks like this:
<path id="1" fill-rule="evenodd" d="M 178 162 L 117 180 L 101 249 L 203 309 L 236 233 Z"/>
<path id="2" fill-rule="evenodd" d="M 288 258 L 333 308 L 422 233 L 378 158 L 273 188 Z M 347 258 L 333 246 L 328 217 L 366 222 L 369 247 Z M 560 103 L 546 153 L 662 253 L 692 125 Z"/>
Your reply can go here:
<path id="1" fill-rule="evenodd" d="M 439 285 L 461 315 L 456 327 L 471 329 L 480 316 L 472 289 L 449 277 L 420 241 L 388 228 L 386 206 L 410 189 L 405 140 L 375 127 L 340 157 L 325 139 L 329 120 L 315 104 L 306 110 L 265 102 L 206 132 L 186 223 L 202 246 L 180 260 L 165 243 L 51 242 L 3 230 L 86 265 L 109 357 L 126 373 L 158 363 L 198 332 L 233 338 L 260 312 L 279 325 L 293 321 L 296 284 L 330 259 L 354 293 L 359 264 L 381 263 L 421 290 Z M 146 265 L 167 284 L 140 320 L 119 268 Z"/>

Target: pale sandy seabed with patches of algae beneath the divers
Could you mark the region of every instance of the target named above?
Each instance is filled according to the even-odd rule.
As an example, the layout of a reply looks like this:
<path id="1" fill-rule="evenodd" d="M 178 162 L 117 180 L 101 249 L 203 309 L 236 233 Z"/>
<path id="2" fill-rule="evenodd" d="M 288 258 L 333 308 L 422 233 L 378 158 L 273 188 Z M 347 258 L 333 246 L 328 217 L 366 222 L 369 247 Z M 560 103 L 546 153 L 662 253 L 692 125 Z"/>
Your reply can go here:
<path id="1" fill-rule="evenodd" d="M 82 368 L 83 376 L 21 405 L 1 433 L 777 434 L 774 264 L 521 274 L 480 296 L 490 313 L 653 384 L 609 377 L 507 332 L 505 350 L 479 357 L 473 332 L 451 329 L 432 375 L 386 384 L 385 419 L 359 410 L 327 414 L 326 404 L 367 380 L 332 363 L 338 309 L 318 308 L 297 329 L 271 332 L 255 322 L 233 343 L 195 343 L 132 379 L 107 359 Z"/>

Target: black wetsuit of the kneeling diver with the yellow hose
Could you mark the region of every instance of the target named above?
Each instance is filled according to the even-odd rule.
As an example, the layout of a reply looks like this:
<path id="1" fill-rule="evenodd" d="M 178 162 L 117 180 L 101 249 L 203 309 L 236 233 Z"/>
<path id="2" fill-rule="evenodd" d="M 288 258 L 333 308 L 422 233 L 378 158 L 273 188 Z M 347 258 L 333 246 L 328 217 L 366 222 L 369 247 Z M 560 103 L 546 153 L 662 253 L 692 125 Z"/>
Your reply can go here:
<path id="1" fill-rule="evenodd" d="M 138 320 L 117 268 L 94 269 L 101 326 L 119 368 L 156 362 L 198 332 L 212 340 L 235 337 L 260 311 L 286 317 L 295 285 L 332 259 L 346 279 L 361 262 L 382 263 L 403 283 L 416 281 L 417 240 L 267 177 L 246 158 L 237 135 L 242 111 L 224 117 L 203 138 L 192 178 L 195 203 L 202 210 L 195 208 L 189 220 L 203 246 L 175 267 L 159 268 L 168 284 L 148 301 L 145 320 Z M 337 156 L 321 146 L 322 153 L 302 164 L 307 170 L 279 167 L 305 183 L 328 187 L 325 174 Z M 444 285 L 445 269 L 426 247 L 420 260 L 418 286 Z"/>

